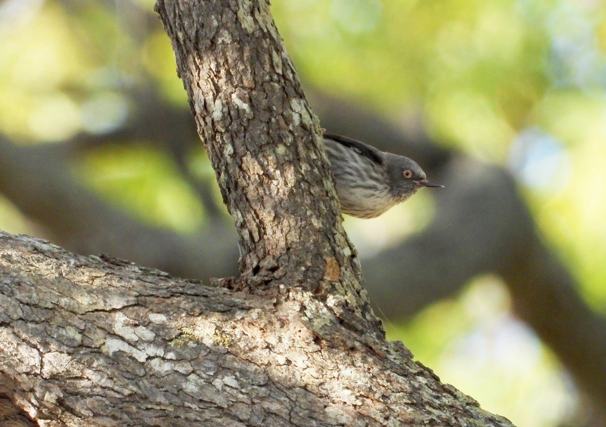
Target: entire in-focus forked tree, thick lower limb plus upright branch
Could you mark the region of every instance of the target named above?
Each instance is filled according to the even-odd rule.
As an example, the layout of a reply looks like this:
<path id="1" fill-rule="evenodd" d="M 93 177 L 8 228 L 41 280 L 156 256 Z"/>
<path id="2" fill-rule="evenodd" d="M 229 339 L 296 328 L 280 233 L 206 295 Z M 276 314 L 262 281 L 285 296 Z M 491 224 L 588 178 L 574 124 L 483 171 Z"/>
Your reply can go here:
<path id="1" fill-rule="evenodd" d="M 385 341 L 268 4 L 156 8 L 238 228 L 242 275 L 209 286 L 0 232 L 0 399 L 15 409 L 0 416 L 510 426 Z"/>

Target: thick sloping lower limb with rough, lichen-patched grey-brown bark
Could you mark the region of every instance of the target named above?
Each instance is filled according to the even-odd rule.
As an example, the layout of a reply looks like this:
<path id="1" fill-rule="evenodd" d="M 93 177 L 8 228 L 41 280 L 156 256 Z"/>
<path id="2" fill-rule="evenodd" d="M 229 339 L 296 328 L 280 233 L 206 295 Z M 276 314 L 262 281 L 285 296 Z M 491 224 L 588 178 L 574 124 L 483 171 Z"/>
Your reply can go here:
<path id="1" fill-rule="evenodd" d="M 319 336 L 333 316 L 300 290 L 268 298 L 4 232 L 0 247 L 6 423 L 511 426 L 398 342 Z"/>

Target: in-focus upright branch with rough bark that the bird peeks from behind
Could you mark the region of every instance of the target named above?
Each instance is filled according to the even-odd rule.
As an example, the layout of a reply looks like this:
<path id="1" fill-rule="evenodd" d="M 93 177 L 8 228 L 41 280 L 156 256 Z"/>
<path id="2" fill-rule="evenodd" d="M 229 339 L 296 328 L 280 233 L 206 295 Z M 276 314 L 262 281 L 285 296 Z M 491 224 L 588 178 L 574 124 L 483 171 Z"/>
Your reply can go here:
<path id="1" fill-rule="evenodd" d="M 239 285 L 333 295 L 347 324 L 382 334 L 341 226 L 318 119 L 268 2 L 158 0 L 156 11 L 238 229 Z"/>

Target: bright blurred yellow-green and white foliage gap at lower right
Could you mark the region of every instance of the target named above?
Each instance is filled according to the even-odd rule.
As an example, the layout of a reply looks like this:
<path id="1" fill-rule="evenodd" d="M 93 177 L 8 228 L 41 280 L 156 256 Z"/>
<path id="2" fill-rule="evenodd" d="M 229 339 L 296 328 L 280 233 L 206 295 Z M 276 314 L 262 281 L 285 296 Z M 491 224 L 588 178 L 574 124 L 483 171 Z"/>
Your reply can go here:
<path id="1" fill-rule="evenodd" d="M 388 322 L 388 339 L 514 425 L 558 425 L 576 403 L 571 381 L 509 305 L 505 286 L 481 277 L 458 301 L 434 304 L 407 325 Z"/>

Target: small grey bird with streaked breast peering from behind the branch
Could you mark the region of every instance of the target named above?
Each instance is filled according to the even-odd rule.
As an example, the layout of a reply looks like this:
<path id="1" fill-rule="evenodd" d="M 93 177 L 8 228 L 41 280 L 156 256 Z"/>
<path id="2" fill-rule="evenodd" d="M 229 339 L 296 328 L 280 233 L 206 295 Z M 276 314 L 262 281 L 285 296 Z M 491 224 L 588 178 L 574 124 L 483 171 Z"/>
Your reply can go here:
<path id="1" fill-rule="evenodd" d="M 353 217 L 375 218 L 421 187 L 444 187 L 427 181 L 421 166 L 410 158 L 354 139 L 325 133 L 324 148 L 341 212 Z"/>

